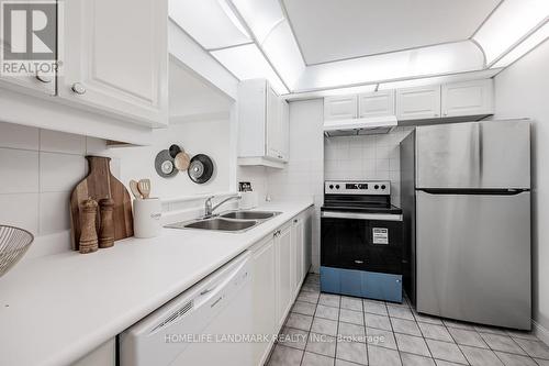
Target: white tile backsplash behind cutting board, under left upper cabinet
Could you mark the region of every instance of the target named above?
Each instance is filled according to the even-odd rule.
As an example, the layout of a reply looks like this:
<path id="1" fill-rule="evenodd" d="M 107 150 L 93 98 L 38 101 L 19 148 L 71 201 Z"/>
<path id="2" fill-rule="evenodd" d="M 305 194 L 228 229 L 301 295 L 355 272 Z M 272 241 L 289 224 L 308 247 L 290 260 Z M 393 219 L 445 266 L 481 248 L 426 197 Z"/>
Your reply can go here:
<path id="1" fill-rule="evenodd" d="M 0 223 L 36 236 L 70 229 L 69 195 L 87 174 L 86 155 L 103 140 L 0 122 Z M 120 177 L 120 160 L 111 160 Z"/>

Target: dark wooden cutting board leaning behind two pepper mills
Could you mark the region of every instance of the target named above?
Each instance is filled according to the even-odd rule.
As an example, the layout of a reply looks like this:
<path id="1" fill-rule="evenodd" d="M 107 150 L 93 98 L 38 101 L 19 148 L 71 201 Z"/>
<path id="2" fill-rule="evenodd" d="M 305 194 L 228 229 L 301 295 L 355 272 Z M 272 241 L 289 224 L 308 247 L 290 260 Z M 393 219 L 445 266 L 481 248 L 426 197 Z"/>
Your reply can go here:
<path id="1" fill-rule="evenodd" d="M 132 214 L 132 200 L 126 187 L 117 180 L 110 168 L 110 157 L 86 156 L 89 164 L 88 176 L 80 181 L 70 195 L 70 222 L 72 228 L 72 248 L 79 249 L 80 241 L 80 203 L 92 198 L 99 202 L 102 198 L 114 200 L 113 221 L 114 241 L 134 235 L 134 224 Z M 96 220 L 96 228 L 99 234 L 99 210 Z"/>

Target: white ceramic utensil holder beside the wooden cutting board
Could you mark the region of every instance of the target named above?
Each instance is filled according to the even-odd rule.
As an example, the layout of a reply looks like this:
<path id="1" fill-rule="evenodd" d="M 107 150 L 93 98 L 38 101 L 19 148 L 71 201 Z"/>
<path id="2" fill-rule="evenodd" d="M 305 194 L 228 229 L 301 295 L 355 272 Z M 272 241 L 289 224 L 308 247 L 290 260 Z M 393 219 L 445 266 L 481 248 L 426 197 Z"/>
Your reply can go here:
<path id="1" fill-rule="evenodd" d="M 155 237 L 160 233 L 163 204 L 158 198 L 134 200 L 134 236 Z"/>

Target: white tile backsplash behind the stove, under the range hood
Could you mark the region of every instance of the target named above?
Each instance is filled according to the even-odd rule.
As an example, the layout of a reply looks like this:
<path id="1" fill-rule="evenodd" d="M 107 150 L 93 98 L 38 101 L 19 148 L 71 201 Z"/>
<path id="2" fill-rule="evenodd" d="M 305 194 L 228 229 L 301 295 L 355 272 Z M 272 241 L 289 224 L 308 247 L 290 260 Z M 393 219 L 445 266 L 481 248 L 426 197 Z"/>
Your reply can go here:
<path id="1" fill-rule="evenodd" d="M 324 179 L 391 180 L 391 201 L 400 206 L 400 143 L 412 130 L 324 138 Z"/>

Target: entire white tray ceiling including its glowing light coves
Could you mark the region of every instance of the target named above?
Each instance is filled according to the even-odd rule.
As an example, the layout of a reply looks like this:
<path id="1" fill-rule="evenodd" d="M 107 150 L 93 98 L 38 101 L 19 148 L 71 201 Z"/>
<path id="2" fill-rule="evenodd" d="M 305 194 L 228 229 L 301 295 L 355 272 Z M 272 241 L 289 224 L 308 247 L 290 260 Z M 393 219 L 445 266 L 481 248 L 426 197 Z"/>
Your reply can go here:
<path id="1" fill-rule="evenodd" d="M 280 95 L 466 77 L 549 37 L 549 0 L 170 0 L 170 18 Z"/>

